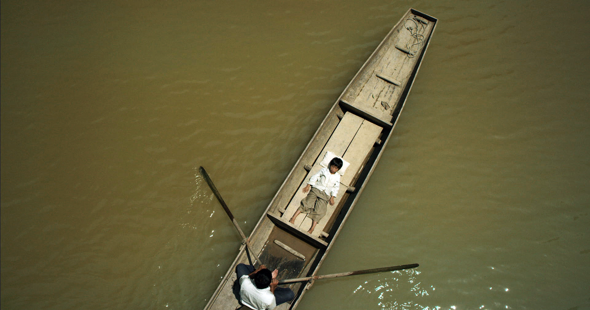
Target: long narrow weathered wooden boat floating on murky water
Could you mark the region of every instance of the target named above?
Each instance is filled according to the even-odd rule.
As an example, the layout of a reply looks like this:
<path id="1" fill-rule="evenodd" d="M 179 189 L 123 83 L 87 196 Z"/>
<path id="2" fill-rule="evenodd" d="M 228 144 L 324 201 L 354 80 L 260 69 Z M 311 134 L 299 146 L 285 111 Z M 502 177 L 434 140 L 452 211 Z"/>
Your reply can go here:
<path id="1" fill-rule="evenodd" d="M 340 94 L 271 200 L 250 234 L 250 244 L 264 265 L 280 270 L 278 279 L 315 276 L 322 266 L 391 137 L 436 24 L 436 18 L 408 9 Z M 289 219 L 306 195 L 301 188 L 322 168 L 329 152 L 349 166 L 340 177 L 335 204 L 328 204 L 326 216 L 309 234 L 306 214 L 295 224 Z M 235 266 L 249 264 L 251 257 L 242 245 L 206 310 L 240 307 L 232 291 Z M 313 280 L 291 284 L 296 297 L 276 309 L 295 309 L 312 285 Z"/>

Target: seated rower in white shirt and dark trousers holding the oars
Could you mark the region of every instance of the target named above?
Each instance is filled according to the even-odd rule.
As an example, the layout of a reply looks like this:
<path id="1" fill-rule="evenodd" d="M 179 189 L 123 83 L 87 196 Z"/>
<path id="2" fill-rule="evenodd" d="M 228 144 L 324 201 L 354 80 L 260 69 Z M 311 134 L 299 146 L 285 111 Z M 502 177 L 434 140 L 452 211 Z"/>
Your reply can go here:
<path id="1" fill-rule="evenodd" d="M 295 298 L 295 293 L 290 288 L 277 286 L 277 269 L 270 272 L 266 266 L 260 265 L 254 270 L 252 265 L 238 264 L 235 266 L 235 273 L 240 283 L 240 304 L 248 308 L 270 310 Z"/>

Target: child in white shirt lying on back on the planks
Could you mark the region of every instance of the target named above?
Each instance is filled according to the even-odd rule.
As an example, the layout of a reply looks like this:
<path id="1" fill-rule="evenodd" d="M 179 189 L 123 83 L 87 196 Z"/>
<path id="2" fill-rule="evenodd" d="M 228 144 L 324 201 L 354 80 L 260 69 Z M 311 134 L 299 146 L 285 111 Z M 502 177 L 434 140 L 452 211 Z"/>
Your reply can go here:
<path id="1" fill-rule="evenodd" d="M 343 162 L 340 158 L 332 158 L 328 168 L 322 168 L 319 172 L 312 175 L 307 182 L 307 186 L 303 188 L 303 192 L 309 192 L 305 198 L 301 200 L 301 205 L 289 220 L 291 224 L 295 224 L 295 218 L 301 213 L 309 214 L 312 219 L 312 227 L 307 233 L 312 233 L 316 228 L 317 222 L 322 220 L 326 215 L 326 205 L 334 205 L 334 199 L 338 195 L 340 188 L 340 174 L 338 170 L 342 168 Z"/>

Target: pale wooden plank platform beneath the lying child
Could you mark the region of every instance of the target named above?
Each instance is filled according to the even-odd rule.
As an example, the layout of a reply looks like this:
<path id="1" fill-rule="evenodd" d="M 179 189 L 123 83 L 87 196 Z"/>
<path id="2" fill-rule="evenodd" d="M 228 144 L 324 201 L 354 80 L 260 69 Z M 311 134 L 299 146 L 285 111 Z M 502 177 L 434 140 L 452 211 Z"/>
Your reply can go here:
<path id="1" fill-rule="evenodd" d="M 345 174 L 340 177 L 340 189 L 335 198 L 334 205 L 327 204 L 326 216 L 317 223 L 316 228 L 311 234 L 316 238 L 322 236 L 324 227 L 329 223 L 335 210 L 337 210 L 340 200 L 342 200 L 342 197 L 346 193 L 346 189 L 356 181 L 355 177 L 360 172 L 360 168 L 362 168 L 366 158 L 371 154 L 371 150 L 375 145 L 375 142 L 378 141 L 382 129 L 381 126 L 377 126 L 374 123 L 369 122 L 369 120 L 363 119 L 353 113 L 346 112 L 324 146 L 322 152 L 320 152 L 316 162 L 314 162 L 312 169 L 307 173 L 306 177 L 301 182 L 301 185 L 297 188 L 297 192 L 294 193 L 293 198 L 291 198 L 291 201 L 285 208 L 285 211 L 281 216 L 283 223 L 287 222 L 287 224 L 305 232 L 307 232 L 312 226 L 311 218 L 303 213 L 297 216 L 294 225 L 288 222 L 295 211 L 297 211 L 297 208 L 299 208 L 301 200 L 307 195 L 307 193 L 303 193 L 301 190 L 307 185 L 309 178 L 322 168 L 320 162 L 324 158 L 326 152 L 330 151 L 336 154 L 336 156 L 349 162 L 350 165 L 346 169 Z"/>

